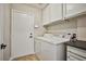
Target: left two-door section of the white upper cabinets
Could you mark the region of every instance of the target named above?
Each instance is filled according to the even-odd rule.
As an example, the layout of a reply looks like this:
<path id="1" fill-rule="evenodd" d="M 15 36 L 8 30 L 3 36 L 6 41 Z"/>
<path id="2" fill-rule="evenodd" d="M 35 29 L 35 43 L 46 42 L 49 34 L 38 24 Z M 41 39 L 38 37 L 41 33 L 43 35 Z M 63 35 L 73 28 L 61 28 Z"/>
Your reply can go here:
<path id="1" fill-rule="evenodd" d="M 50 3 L 42 10 L 44 25 L 62 20 L 62 3 Z"/>

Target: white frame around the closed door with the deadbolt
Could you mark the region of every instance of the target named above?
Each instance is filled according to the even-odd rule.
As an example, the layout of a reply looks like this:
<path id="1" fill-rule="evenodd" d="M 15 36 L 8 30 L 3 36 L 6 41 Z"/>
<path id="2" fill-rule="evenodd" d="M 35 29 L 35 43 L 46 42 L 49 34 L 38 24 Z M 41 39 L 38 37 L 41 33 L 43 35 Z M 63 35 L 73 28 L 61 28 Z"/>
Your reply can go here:
<path id="1" fill-rule="evenodd" d="M 11 9 L 11 57 L 10 57 L 10 60 L 13 60 L 13 59 L 15 59 L 15 57 L 19 57 L 19 55 L 17 56 L 12 56 L 12 23 L 13 23 L 13 21 L 12 21 L 12 16 L 13 16 L 13 13 L 14 12 L 17 12 L 17 13 L 24 13 L 24 14 L 32 14 L 32 13 L 29 13 L 29 12 L 25 12 L 25 11 L 20 11 L 20 10 L 16 10 L 16 9 Z M 33 16 L 34 16 L 34 14 L 33 14 Z M 34 16 L 35 17 L 35 16 Z M 34 21 L 35 22 L 35 21 Z M 34 26 L 35 26 L 35 24 L 34 24 Z M 35 34 L 35 33 L 34 33 Z M 33 34 L 33 36 L 34 36 L 34 34 Z M 34 48 L 35 48 L 35 43 L 34 43 Z M 35 53 L 35 49 L 34 49 L 34 53 Z M 20 55 L 20 56 L 23 56 L 23 55 Z"/>

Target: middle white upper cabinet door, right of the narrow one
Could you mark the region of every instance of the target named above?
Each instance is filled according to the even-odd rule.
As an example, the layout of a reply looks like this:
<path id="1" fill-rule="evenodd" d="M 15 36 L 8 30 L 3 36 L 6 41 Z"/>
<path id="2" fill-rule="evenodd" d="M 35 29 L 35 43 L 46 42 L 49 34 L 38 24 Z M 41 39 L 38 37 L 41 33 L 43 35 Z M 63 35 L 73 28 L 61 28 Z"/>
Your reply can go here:
<path id="1" fill-rule="evenodd" d="M 62 18 L 62 4 L 61 3 L 51 3 L 51 22 Z"/>

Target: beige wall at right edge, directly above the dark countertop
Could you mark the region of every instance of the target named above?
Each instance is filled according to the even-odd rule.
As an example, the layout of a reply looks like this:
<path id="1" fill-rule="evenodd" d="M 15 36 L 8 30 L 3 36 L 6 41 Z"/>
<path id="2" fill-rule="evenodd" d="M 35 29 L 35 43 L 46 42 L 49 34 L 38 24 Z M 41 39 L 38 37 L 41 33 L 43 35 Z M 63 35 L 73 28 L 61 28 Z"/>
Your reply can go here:
<path id="1" fill-rule="evenodd" d="M 77 18 L 78 40 L 86 41 L 86 15 Z"/>

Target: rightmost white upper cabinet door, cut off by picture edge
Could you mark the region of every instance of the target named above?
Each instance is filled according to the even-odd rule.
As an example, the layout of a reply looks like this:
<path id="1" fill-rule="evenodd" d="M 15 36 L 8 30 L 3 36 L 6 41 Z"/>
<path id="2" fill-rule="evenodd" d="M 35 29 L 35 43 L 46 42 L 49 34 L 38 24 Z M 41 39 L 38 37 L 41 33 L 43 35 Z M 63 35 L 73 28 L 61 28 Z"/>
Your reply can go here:
<path id="1" fill-rule="evenodd" d="M 65 17 L 75 16 L 78 13 L 86 11 L 86 3 L 66 3 L 66 14 Z"/>

